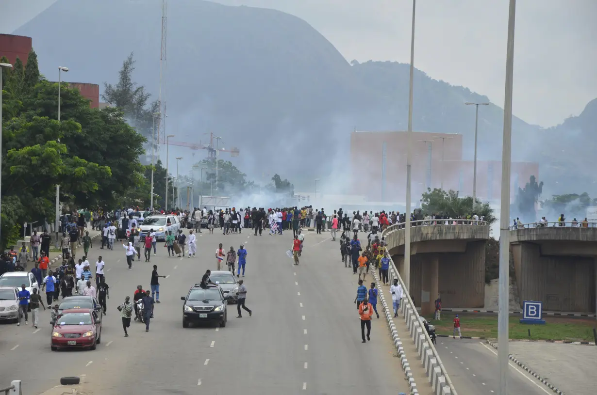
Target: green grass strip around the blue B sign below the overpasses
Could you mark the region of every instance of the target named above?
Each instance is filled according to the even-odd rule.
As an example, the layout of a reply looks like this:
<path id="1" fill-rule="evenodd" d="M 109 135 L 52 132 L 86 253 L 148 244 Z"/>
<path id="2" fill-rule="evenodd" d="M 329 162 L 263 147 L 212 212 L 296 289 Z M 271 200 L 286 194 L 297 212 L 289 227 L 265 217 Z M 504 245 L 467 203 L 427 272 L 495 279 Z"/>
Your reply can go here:
<path id="1" fill-rule="evenodd" d="M 427 319 L 435 325 L 438 335 L 452 335 L 454 326 L 452 321 L 455 313 L 442 313 L 441 321 Z M 463 336 L 497 338 L 497 315 L 475 315 L 458 313 L 460 331 Z M 544 317 L 545 325 L 521 324 L 518 320 L 522 315 L 510 315 L 509 338 L 529 340 L 565 340 L 565 341 L 595 341 L 593 326 L 597 326 L 595 319 L 573 319 Z M 531 336 L 528 330 L 531 329 Z"/>

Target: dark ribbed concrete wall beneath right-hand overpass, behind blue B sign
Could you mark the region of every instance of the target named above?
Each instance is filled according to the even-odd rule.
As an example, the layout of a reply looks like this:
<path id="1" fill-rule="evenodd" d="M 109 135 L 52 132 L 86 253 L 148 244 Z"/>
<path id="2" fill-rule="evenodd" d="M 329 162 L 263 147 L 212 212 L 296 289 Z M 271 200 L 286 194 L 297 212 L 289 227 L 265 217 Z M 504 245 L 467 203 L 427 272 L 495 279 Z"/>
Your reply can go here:
<path id="1" fill-rule="evenodd" d="M 544 310 L 562 312 L 596 311 L 594 257 L 545 255 L 532 242 L 513 243 L 510 250 L 521 303 L 542 301 Z"/>

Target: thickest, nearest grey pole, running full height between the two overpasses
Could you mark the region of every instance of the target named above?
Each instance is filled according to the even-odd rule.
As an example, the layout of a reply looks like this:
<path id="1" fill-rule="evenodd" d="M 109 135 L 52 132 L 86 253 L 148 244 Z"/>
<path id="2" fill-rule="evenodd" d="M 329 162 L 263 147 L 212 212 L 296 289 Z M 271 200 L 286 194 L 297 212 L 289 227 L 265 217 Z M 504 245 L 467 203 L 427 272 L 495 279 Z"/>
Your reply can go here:
<path id="1" fill-rule="evenodd" d="M 501 148 L 500 270 L 497 344 L 500 374 L 499 394 L 507 395 L 508 383 L 508 299 L 510 273 L 510 160 L 512 159 L 512 85 L 514 79 L 514 26 L 516 0 L 510 0 L 504 93 L 504 136 Z"/>

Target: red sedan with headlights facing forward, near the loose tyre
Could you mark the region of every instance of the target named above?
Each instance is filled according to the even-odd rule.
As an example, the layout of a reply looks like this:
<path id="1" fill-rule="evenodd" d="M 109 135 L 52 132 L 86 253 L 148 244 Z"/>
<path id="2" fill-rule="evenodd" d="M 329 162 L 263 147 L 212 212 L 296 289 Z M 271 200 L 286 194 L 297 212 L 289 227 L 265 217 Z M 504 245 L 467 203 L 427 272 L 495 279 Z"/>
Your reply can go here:
<path id="1" fill-rule="evenodd" d="M 50 347 L 53 351 L 64 347 L 95 350 L 101 342 L 101 321 L 93 309 L 67 309 L 54 324 Z"/>

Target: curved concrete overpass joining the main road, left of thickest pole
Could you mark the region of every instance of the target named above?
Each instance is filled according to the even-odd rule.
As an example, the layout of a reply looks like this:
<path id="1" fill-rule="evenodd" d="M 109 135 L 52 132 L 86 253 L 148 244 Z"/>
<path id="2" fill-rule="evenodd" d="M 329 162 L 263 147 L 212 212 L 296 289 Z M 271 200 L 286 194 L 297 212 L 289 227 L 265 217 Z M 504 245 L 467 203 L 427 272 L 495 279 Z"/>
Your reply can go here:
<path id="1" fill-rule="evenodd" d="M 411 222 L 410 294 L 422 314 L 435 309 L 441 294 L 445 306 L 485 304 L 485 245 L 490 226 L 480 220 Z M 454 223 L 456 222 L 456 224 Z M 383 232 L 387 250 L 404 278 L 404 223 Z"/>

